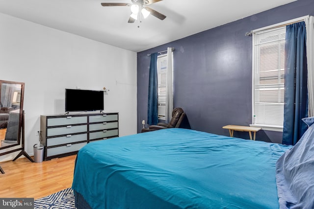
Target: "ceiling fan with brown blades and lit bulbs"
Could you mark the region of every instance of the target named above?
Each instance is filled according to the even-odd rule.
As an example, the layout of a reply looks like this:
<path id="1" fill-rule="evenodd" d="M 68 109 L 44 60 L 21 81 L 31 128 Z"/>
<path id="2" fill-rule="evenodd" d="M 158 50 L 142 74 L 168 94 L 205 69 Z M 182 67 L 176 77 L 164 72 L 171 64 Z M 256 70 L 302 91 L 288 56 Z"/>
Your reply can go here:
<path id="1" fill-rule="evenodd" d="M 141 14 L 143 15 L 144 19 L 147 18 L 150 14 L 157 17 L 160 20 L 164 20 L 166 18 L 165 15 L 146 6 L 162 0 L 131 0 L 131 1 L 132 3 L 101 3 L 101 4 L 102 6 L 131 6 L 132 13 L 130 15 L 128 23 L 134 23 L 136 20 L 140 19 Z"/>

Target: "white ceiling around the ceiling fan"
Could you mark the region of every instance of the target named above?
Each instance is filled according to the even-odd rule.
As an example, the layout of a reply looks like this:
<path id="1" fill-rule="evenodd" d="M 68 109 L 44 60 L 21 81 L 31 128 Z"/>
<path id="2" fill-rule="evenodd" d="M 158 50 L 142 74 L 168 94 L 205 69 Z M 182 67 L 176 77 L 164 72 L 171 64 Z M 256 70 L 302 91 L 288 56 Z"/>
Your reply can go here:
<path id="1" fill-rule="evenodd" d="M 167 16 L 128 23 L 131 0 L 0 0 L 0 12 L 105 44 L 139 52 L 295 0 L 162 0 L 149 5 Z M 139 27 L 138 27 L 139 26 Z"/>

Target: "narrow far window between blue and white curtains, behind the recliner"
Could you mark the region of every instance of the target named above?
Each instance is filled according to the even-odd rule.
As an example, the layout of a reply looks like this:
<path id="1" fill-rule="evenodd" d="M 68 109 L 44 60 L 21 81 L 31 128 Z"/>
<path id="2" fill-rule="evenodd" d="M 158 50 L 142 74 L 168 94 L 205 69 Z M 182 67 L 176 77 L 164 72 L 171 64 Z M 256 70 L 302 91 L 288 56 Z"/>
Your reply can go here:
<path id="1" fill-rule="evenodd" d="M 158 119 L 166 117 L 167 96 L 167 54 L 159 55 L 157 58 L 157 80 L 158 80 Z"/>

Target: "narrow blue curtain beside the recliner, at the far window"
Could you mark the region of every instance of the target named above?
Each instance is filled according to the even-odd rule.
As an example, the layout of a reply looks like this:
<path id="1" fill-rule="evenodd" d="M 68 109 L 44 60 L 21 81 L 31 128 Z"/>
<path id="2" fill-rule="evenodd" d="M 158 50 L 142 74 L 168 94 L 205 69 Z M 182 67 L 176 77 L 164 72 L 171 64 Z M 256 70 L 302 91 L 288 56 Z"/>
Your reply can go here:
<path id="1" fill-rule="evenodd" d="M 148 113 L 147 123 L 156 125 L 158 123 L 158 93 L 157 93 L 157 53 L 151 54 L 151 65 L 149 69 L 148 84 Z"/>

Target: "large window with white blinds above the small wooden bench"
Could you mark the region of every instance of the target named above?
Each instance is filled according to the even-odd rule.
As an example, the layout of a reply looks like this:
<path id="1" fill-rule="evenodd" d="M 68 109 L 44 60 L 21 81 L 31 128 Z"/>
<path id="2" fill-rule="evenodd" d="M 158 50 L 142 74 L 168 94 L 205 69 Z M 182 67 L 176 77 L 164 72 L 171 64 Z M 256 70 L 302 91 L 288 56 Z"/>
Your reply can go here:
<path id="1" fill-rule="evenodd" d="M 265 130 L 283 129 L 285 36 L 286 26 L 253 33 L 253 126 Z"/>

